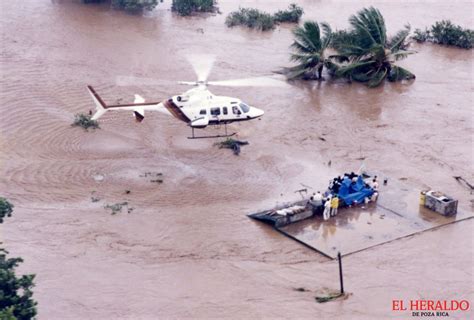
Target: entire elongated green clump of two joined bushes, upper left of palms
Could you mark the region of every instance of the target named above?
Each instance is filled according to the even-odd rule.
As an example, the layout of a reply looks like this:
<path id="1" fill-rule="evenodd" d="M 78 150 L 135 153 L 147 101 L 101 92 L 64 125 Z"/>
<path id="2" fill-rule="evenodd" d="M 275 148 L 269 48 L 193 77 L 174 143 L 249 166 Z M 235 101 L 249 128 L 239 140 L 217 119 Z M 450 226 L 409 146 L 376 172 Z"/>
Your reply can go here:
<path id="1" fill-rule="evenodd" d="M 225 24 L 228 27 L 246 26 L 251 29 L 262 31 L 272 30 L 277 23 L 293 22 L 297 23 L 303 15 L 303 9 L 296 4 L 291 4 L 287 10 L 280 10 L 274 15 L 253 8 L 240 8 L 231 12 Z"/>

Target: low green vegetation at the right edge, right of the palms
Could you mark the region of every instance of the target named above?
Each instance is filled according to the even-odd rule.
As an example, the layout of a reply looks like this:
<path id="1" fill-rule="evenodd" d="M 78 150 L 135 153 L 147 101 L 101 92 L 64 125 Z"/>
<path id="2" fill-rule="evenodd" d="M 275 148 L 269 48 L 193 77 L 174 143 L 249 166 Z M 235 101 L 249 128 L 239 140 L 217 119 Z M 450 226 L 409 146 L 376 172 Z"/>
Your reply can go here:
<path id="1" fill-rule="evenodd" d="M 464 29 L 449 20 L 437 21 L 429 29 L 416 29 L 413 39 L 418 42 L 430 41 L 447 46 L 472 49 L 474 45 L 474 30 Z"/>

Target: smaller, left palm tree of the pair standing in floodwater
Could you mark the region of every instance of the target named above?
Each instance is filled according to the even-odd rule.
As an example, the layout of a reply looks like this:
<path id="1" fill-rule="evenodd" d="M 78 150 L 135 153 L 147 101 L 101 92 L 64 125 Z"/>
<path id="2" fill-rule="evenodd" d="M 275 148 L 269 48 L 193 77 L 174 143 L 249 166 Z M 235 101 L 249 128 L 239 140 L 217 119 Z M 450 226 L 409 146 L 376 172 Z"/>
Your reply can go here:
<path id="1" fill-rule="evenodd" d="M 295 37 L 291 48 L 291 60 L 297 65 L 284 68 L 282 73 L 288 79 L 322 79 L 323 67 L 333 70 L 335 65 L 326 58 L 325 50 L 331 43 L 331 27 L 321 23 L 323 36 L 317 22 L 306 21 L 302 27 L 293 30 Z"/>

